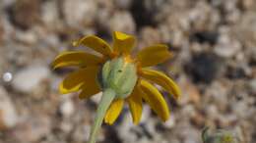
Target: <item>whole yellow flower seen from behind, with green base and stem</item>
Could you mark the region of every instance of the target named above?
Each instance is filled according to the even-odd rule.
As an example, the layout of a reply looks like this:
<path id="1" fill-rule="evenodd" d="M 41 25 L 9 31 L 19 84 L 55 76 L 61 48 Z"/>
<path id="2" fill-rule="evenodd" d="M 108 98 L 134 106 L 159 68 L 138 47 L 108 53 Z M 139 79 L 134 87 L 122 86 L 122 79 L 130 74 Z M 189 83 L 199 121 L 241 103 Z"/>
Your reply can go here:
<path id="1" fill-rule="evenodd" d="M 102 120 L 112 124 L 120 115 L 127 102 L 133 122 L 139 123 L 143 101 L 147 102 L 162 120 L 169 118 L 169 111 L 160 91 L 153 85 L 159 84 L 175 99 L 180 96 L 176 83 L 160 71 L 148 69 L 170 58 L 165 45 L 153 45 L 140 51 L 136 58 L 130 55 L 136 39 L 128 34 L 113 32 L 113 46 L 91 35 L 73 43 L 94 49 L 102 56 L 83 51 L 63 52 L 53 62 L 53 68 L 78 67 L 60 84 L 61 93 L 80 91 L 79 98 L 86 99 L 102 91 L 101 101 L 96 111 L 90 143 L 96 140 L 97 130 Z"/>

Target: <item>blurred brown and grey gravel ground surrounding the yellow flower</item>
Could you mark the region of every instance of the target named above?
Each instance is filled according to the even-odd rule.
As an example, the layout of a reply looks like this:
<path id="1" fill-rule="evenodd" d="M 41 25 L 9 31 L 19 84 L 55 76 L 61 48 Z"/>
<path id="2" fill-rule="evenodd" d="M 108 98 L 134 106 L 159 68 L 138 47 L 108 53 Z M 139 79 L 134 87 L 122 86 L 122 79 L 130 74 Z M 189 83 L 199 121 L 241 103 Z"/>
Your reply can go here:
<path id="1" fill-rule="evenodd" d="M 162 92 L 166 122 L 146 105 L 133 125 L 126 107 L 103 125 L 99 143 L 202 143 L 205 125 L 256 142 L 255 0 L 0 0 L 0 143 L 87 142 L 99 96 L 60 95 L 71 70 L 50 63 L 76 50 L 73 40 L 96 34 L 111 42 L 113 30 L 136 35 L 136 50 L 167 44 L 174 57 L 158 68 L 182 98 Z"/>

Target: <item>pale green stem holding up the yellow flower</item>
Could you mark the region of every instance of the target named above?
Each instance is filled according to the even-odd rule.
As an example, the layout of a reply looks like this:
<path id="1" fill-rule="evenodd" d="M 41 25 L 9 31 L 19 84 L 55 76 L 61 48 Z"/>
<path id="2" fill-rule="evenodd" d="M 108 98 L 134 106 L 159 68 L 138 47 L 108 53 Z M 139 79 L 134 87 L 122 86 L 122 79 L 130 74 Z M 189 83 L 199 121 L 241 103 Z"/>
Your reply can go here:
<path id="1" fill-rule="evenodd" d="M 91 129 L 89 143 L 96 143 L 96 136 L 97 136 L 98 129 L 100 128 L 102 121 L 104 119 L 104 115 L 108 107 L 110 106 L 111 102 L 113 101 L 115 95 L 116 95 L 115 91 L 110 88 L 103 91 L 98 108 L 96 109 L 96 119 Z"/>

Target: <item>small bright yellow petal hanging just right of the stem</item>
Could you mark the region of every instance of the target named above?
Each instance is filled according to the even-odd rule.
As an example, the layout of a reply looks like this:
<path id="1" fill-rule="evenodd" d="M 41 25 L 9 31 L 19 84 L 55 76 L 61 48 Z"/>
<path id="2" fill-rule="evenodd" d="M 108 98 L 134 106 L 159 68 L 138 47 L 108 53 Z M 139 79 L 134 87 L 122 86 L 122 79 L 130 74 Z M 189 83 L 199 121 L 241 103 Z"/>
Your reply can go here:
<path id="1" fill-rule="evenodd" d="M 112 124 L 119 117 L 123 109 L 123 103 L 123 99 L 116 99 L 111 103 L 104 117 L 105 123 Z"/>

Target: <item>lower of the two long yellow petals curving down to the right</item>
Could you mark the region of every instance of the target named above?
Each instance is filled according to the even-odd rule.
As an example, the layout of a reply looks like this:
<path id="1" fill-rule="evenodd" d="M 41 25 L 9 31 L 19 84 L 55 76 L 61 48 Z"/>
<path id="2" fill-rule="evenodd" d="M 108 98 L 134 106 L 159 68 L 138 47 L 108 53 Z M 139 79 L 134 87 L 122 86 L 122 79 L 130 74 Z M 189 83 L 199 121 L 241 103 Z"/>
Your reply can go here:
<path id="1" fill-rule="evenodd" d="M 168 106 L 160 94 L 159 90 L 146 80 L 140 80 L 140 89 L 143 99 L 151 106 L 154 112 L 163 121 L 169 118 Z"/>

